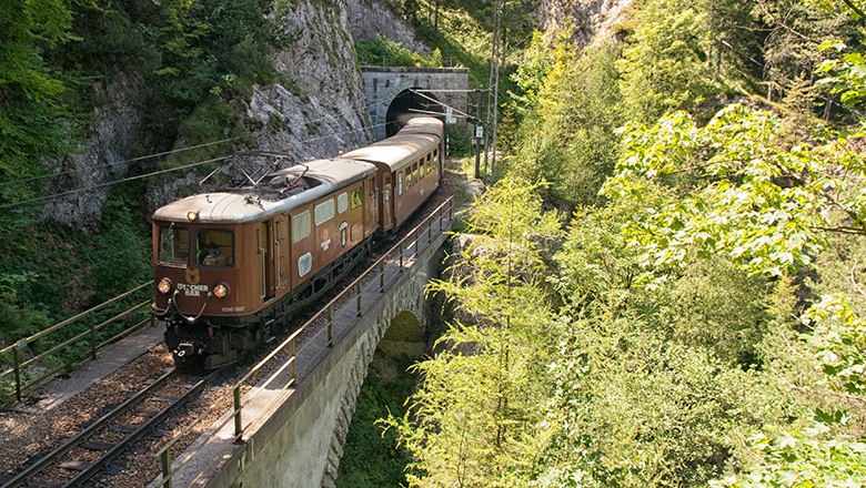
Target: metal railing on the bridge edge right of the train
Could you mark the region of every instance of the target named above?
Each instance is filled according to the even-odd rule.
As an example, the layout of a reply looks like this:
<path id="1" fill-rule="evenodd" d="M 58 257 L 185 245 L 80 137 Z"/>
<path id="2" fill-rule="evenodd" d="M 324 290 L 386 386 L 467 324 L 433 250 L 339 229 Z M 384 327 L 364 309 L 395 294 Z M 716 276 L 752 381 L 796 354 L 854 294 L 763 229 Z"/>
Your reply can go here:
<path id="1" fill-rule="evenodd" d="M 183 437 L 188 436 L 205 418 L 212 418 L 223 410 L 220 418 L 222 420 L 212 426 L 208 439 L 216 435 L 230 423 L 234 423 L 233 444 L 243 444 L 244 433 L 249 429 L 251 423 L 244 426 L 243 409 L 249 406 L 269 386 L 278 384 L 271 392 L 288 392 L 298 385 L 299 363 L 304 367 L 302 373 L 311 372 L 315 365 L 320 364 L 328 354 L 340 344 L 341 338 L 345 337 L 360 322 L 364 313 L 365 304 L 374 304 L 386 291 L 386 286 L 400 279 L 406 267 L 414 265 L 421 252 L 426 251 L 432 244 L 434 237 L 451 230 L 454 221 L 454 199 L 451 197 L 440 205 L 427 216 L 420 225 L 409 232 L 406 237 L 395 244 L 384 256 L 370 266 L 360 277 L 346 286 L 340 294 L 328 303 L 319 313 L 310 318 L 303 326 L 292 333 L 285 340 L 276 346 L 264 359 L 259 362 L 246 375 L 239 379 L 231 389 L 231 394 L 225 394 L 213 401 L 210 408 L 207 408 L 201 415 L 187 425 L 169 443 L 162 446 L 155 454 L 162 469 L 161 484 L 163 488 L 171 488 L 172 480 L 183 466 L 202 453 L 207 445 L 207 439 L 193 451 L 188 453 L 184 461 L 172 469 L 171 449 Z M 282 360 L 281 364 L 272 364 Z M 264 383 L 255 385 L 256 392 L 244 397 L 243 393 L 253 388 L 252 380 L 263 370 L 273 369 Z M 303 374 L 301 375 L 303 379 Z M 285 395 L 272 399 L 265 410 L 271 410 L 276 401 L 281 401 Z M 231 408 L 228 409 L 228 405 Z M 228 411 L 226 411 L 228 410 Z M 229 444 L 228 446 L 231 446 Z M 228 449 L 228 447 L 225 447 Z M 224 450 L 222 451 L 224 453 Z M 209 454 L 211 461 L 195 471 L 195 478 L 190 484 L 195 482 L 205 472 L 213 472 L 216 464 L 223 460 L 221 455 Z"/>

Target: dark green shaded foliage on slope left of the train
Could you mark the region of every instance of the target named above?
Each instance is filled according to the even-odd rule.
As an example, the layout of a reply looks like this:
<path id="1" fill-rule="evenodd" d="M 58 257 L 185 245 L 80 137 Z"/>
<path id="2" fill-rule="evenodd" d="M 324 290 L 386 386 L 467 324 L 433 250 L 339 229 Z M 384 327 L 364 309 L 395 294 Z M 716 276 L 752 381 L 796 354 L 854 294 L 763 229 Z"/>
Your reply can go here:
<path id="1" fill-rule="evenodd" d="M 64 157 L 87 149 L 91 114 L 114 110 L 107 87 L 142 109 L 141 133 L 130 134 L 139 145 L 128 148 L 135 152 L 130 156 L 243 135 L 236 99 L 249 96 L 253 83 L 276 78 L 269 53 L 291 42 L 274 29 L 275 8 L 286 6 L 264 0 L 0 4 L 0 319 L 6 324 L 0 348 L 150 278 L 144 184 L 113 186 L 101 222 L 87 232 L 43 222 L 38 200 L 70 190 L 73 177 L 51 175 L 73 173 Z M 212 156 L 209 150 L 183 155 Z M 142 160 L 128 175 L 184 161 Z M 73 189 L 93 184 L 71 183 Z M 42 343 L 50 340 L 24 354 L 48 348 Z"/>

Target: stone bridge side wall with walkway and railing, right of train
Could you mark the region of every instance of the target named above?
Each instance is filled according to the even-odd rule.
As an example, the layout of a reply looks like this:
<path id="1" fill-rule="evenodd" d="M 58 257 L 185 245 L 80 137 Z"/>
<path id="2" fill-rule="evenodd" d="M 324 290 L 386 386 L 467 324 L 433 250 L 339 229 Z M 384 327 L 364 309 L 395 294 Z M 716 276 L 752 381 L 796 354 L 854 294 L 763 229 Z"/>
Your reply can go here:
<path id="1" fill-rule="evenodd" d="M 333 486 L 376 345 L 401 312 L 423 316 L 424 284 L 453 221 L 449 199 L 253 367 L 230 397 L 215 400 L 200 420 L 233 406 L 173 464 L 172 445 L 197 426 L 164 446 L 163 474 L 151 486 Z"/>

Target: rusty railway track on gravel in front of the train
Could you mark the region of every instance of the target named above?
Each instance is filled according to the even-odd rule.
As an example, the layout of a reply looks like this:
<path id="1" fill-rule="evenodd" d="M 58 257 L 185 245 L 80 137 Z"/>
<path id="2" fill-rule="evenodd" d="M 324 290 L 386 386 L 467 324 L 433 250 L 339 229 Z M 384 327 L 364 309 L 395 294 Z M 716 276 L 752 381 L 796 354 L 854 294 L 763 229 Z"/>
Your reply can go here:
<path id="1" fill-rule="evenodd" d="M 154 430 L 218 373 L 190 378 L 177 369 L 169 370 L 36 462 L 2 480 L 0 488 L 80 486 Z"/>

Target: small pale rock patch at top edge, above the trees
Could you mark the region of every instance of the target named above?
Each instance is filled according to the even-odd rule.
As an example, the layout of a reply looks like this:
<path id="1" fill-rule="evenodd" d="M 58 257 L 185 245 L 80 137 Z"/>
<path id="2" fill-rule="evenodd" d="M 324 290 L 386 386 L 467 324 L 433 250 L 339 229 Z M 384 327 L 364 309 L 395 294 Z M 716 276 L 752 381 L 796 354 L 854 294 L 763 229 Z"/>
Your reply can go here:
<path id="1" fill-rule="evenodd" d="M 581 45 L 607 42 L 616 33 L 632 0 L 541 0 L 538 20 L 542 30 L 563 27 L 571 20 L 575 26 L 575 41 Z"/>

